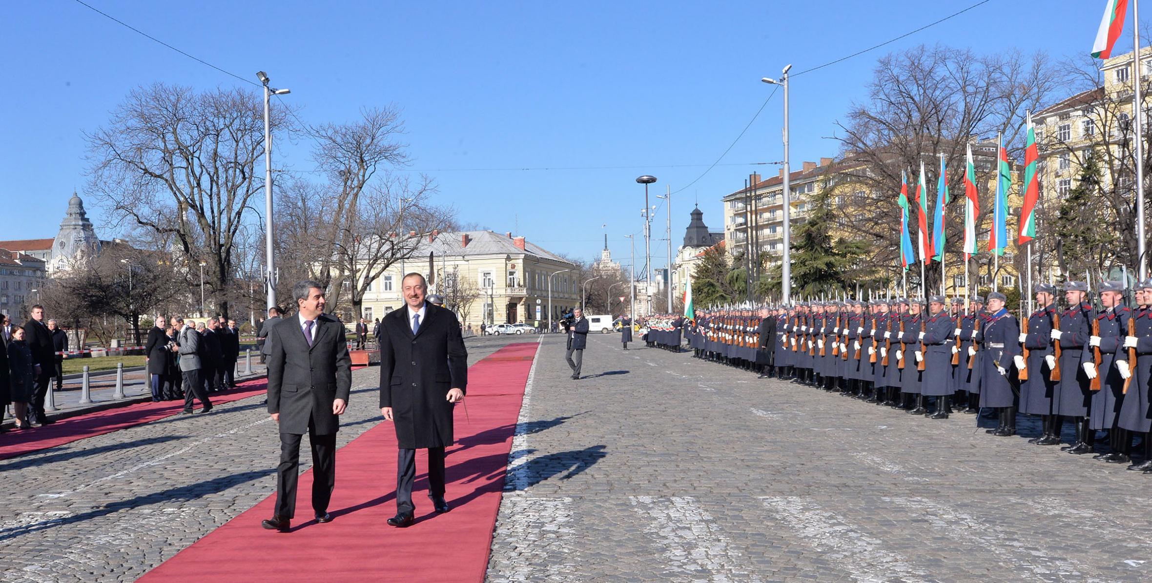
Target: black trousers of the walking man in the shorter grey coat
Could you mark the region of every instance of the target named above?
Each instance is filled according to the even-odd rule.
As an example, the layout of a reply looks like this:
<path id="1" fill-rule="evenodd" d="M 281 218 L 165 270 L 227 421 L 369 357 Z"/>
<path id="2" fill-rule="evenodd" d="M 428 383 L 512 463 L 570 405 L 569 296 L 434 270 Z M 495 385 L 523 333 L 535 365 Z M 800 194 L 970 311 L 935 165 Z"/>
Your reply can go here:
<path id="1" fill-rule="evenodd" d="M 296 516 L 296 484 L 300 482 L 300 434 L 280 434 L 280 466 L 276 467 L 276 506 L 273 514 Z M 328 512 L 332 490 L 336 488 L 336 434 L 316 435 L 316 424 L 308 424 L 308 442 L 312 444 L 312 511 Z M 442 452 L 442 450 L 441 450 Z M 411 490 L 409 489 L 409 497 Z"/>

